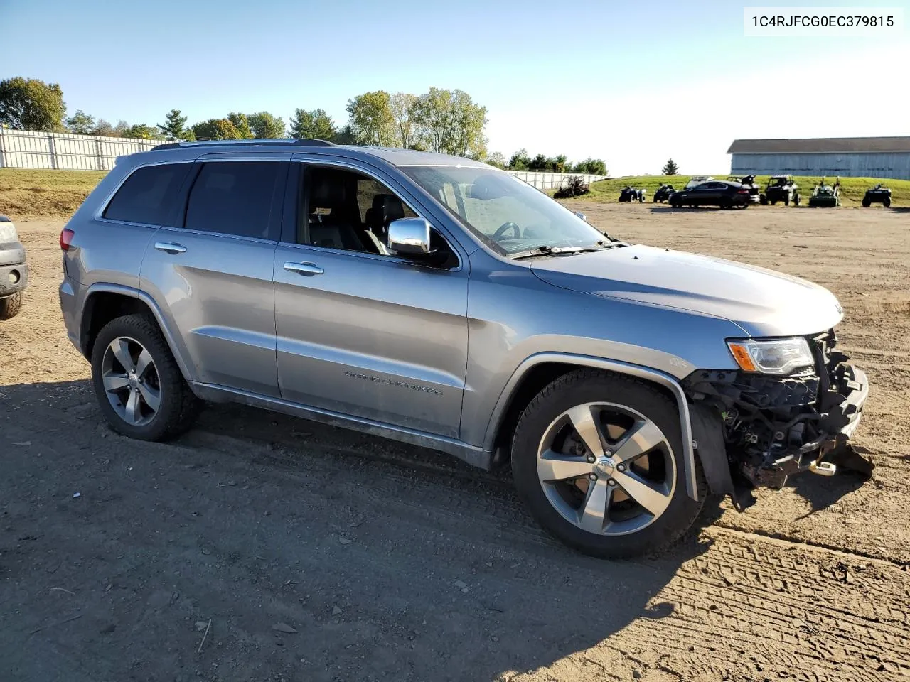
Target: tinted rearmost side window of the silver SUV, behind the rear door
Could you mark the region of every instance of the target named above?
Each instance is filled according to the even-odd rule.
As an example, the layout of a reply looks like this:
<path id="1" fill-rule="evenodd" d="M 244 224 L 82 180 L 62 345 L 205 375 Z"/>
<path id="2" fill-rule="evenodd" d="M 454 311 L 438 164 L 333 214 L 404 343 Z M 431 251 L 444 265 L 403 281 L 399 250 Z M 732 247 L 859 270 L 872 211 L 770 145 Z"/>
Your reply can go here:
<path id="1" fill-rule="evenodd" d="M 124 223 L 165 225 L 172 216 L 177 190 L 188 170 L 189 164 L 137 168 L 116 191 L 104 217 Z"/>

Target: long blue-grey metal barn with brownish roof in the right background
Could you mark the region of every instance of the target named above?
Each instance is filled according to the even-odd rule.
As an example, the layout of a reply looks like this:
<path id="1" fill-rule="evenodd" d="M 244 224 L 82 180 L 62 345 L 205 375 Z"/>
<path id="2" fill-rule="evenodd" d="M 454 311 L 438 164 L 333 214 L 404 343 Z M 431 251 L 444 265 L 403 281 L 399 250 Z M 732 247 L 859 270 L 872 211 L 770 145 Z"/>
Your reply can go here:
<path id="1" fill-rule="evenodd" d="M 883 177 L 910 180 L 910 137 L 733 140 L 731 175 Z"/>

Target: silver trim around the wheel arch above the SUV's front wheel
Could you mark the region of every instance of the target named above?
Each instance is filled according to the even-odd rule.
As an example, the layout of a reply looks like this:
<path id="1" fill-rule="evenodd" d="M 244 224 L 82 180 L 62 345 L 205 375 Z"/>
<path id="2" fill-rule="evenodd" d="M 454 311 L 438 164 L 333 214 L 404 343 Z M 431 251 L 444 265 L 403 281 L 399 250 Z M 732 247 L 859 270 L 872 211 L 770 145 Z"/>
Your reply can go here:
<path id="1" fill-rule="evenodd" d="M 693 446 L 692 416 L 689 414 L 689 403 L 686 400 L 685 393 L 682 391 L 679 381 L 672 375 L 662 372 L 659 369 L 641 365 L 633 365 L 619 360 L 610 360 L 603 357 L 580 356 L 569 353 L 537 353 L 525 358 L 512 373 L 509 381 L 502 388 L 496 406 L 490 414 L 490 422 L 487 425 L 486 436 L 484 436 L 483 449 L 486 452 L 492 452 L 496 442 L 496 435 L 499 431 L 506 410 L 511 403 L 515 390 L 521 384 L 521 379 L 534 366 L 541 363 L 561 363 L 564 365 L 574 365 L 579 367 L 593 367 L 604 369 L 616 374 L 634 376 L 639 379 L 651 381 L 658 386 L 662 386 L 670 391 L 676 406 L 679 409 L 680 431 L 682 436 L 682 461 L 685 465 L 685 486 L 686 492 L 696 502 L 699 500 L 698 484 L 696 481 L 695 471 L 695 447 Z"/>

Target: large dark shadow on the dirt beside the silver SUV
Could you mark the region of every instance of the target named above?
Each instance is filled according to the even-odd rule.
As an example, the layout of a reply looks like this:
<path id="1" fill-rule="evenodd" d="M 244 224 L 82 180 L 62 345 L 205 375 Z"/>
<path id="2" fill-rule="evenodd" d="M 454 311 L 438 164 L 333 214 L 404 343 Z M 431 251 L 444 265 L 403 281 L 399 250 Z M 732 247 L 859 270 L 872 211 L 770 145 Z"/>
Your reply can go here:
<path id="1" fill-rule="evenodd" d="M 101 423 L 87 381 L 0 386 L 0 426 L 14 677 L 511 677 L 672 616 L 665 587 L 709 547 L 584 557 L 508 474 L 243 406 L 155 444 Z M 712 500 L 699 525 L 720 514 Z M 636 667 L 613 647 L 585 661 Z"/>

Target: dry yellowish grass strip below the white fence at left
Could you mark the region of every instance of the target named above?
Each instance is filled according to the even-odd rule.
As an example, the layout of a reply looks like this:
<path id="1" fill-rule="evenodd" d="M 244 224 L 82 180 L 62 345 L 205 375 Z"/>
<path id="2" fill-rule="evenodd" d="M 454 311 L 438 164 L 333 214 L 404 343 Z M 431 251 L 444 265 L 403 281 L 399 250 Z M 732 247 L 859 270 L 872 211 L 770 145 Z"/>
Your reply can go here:
<path id="1" fill-rule="evenodd" d="M 0 214 L 68 217 L 106 173 L 102 171 L 0 168 Z"/>

